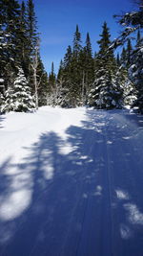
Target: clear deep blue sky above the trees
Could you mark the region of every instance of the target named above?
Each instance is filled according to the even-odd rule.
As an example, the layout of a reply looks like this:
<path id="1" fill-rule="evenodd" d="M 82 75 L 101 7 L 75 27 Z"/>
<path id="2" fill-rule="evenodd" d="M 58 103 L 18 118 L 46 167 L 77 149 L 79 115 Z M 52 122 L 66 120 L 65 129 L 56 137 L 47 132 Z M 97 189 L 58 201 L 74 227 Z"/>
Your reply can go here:
<path id="1" fill-rule="evenodd" d="M 117 25 L 113 14 L 129 12 L 133 9 L 133 0 L 33 0 L 41 33 L 41 58 L 48 73 L 51 61 L 57 72 L 60 59 L 64 57 L 68 45 L 72 45 L 76 24 L 85 42 L 87 32 L 92 40 L 92 50 L 97 51 L 96 41 L 107 21 L 112 39 L 118 35 L 121 27 Z"/>

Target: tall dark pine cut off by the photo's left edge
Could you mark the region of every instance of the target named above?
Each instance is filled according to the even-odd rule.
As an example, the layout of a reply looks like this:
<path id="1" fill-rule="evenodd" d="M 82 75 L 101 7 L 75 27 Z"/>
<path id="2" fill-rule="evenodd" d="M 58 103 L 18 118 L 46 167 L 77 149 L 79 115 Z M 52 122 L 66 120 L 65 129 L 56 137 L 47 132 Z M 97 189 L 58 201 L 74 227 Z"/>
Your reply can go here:
<path id="1" fill-rule="evenodd" d="M 0 78 L 4 80 L 5 90 L 14 79 L 19 9 L 15 0 L 0 1 Z M 12 80 L 7 74 L 13 76 Z"/>

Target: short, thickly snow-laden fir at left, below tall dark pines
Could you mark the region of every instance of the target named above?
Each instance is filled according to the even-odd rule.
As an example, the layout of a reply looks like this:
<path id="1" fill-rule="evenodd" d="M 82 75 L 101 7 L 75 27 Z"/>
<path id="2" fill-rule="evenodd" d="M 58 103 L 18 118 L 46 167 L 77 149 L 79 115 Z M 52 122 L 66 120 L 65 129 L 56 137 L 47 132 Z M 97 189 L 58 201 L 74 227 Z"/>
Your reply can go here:
<path id="1" fill-rule="evenodd" d="M 31 96 L 28 81 L 25 78 L 22 68 L 19 68 L 18 75 L 13 84 L 13 88 L 9 88 L 6 91 L 6 101 L 2 111 L 28 112 L 34 108 L 35 104 L 33 97 Z"/>

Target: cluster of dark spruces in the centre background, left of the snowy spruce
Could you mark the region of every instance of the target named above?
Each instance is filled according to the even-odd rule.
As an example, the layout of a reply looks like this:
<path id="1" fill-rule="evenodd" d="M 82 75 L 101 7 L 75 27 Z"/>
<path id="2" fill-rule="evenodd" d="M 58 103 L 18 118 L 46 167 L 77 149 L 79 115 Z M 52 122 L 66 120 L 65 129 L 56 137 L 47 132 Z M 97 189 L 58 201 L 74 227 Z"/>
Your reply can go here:
<path id="1" fill-rule="evenodd" d="M 86 45 L 82 47 L 81 34 L 76 26 L 73 47 L 68 47 L 57 77 L 58 105 L 85 105 L 93 78 L 94 60 L 90 35 L 87 34 Z"/>

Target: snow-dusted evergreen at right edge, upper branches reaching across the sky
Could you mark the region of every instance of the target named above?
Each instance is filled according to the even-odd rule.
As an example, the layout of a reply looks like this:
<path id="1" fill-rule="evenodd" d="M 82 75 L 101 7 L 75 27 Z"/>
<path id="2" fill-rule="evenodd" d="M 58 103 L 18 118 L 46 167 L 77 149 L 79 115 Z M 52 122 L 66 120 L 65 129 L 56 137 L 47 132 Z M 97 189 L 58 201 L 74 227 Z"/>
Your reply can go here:
<path id="1" fill-rule="evenodd" d="M 121 35 L 112 42 L 112 48 L 116 48 L 118 45 L 124 44 L 135 31 L 143 30 L 143 2 L 137 1 L 137 10 L 133 12 L 127 12 L 124 15 L 119 16 L 119 23 L 124 27 Z M 129 78 L 135 86 L 137 91 L 137 99 L 133 105 L 137 106 L 139 111 L 143 113 L 143 37 L 137 33 L 137 43 L 131 56 L 131 67 L 129 68 Z"/>

